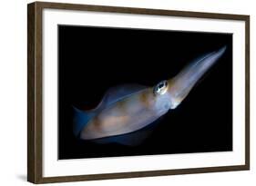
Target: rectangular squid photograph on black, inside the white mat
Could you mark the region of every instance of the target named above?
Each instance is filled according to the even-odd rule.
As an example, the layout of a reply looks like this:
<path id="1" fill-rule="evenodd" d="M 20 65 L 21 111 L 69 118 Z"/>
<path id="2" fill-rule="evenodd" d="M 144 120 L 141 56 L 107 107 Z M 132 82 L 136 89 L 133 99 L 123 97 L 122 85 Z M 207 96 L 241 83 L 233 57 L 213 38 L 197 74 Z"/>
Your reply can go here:
<path id="1" fill-rule="evenodd" d="M 57 27 L 58 159 L 232 151 L 232 34 Z"/>

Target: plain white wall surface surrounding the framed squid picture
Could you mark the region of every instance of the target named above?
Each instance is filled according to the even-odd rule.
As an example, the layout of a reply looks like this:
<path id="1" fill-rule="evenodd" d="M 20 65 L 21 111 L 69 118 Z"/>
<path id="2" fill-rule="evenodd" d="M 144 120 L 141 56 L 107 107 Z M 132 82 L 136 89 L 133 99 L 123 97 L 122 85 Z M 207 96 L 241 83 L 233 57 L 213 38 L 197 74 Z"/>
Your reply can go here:
<path id="1" fill-rule="evenodd" d="M 253 0 L 74 0 L 66 3 L 118 5 L 186 11 L 251 15 L 251 171 L 56 183 L 55 185 L 255 185 L 256 3 Z M 26 182 L 26 4 L 6 0 L 0 4 L 0 185 Z M 255 4 L 255 5 L 254 5 Z M 218 136 L 216 136 L 218 137 Z M 51 185 L 51 184 L 49 184 Z"/>

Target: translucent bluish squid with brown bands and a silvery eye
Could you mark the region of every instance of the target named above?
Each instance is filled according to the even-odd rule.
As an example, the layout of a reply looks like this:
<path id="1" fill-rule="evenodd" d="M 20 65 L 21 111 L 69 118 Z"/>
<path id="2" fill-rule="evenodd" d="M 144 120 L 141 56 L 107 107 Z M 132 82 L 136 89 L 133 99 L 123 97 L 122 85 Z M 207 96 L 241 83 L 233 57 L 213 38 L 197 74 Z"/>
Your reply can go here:
<path id="1" fill-rule="evenodd" d="M 74 134 L 95 142 L 140 142 L 148 135 L 143 129 L 179 106 L 194 85 L 225 53 L 226 46 L 204 54 L 169 80 L 147 87 L 135 83 L 110 88 L 92 110 L 74 107 Z"/>

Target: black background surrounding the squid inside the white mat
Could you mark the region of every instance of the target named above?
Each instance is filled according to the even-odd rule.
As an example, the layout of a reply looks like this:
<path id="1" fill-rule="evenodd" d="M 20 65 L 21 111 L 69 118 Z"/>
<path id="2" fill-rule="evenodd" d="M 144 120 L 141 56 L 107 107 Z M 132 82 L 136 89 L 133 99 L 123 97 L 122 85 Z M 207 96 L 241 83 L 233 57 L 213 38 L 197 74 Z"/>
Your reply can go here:
<path id="1" fill-rule="evenodd" d="M 226 53 L 136 147 L 78 140 L 72 106 L 90 109 L 109 87 L 153 86 L 201 54 Z M 232 151 L 232 34 L 58 26 L 58 158 Z"/>

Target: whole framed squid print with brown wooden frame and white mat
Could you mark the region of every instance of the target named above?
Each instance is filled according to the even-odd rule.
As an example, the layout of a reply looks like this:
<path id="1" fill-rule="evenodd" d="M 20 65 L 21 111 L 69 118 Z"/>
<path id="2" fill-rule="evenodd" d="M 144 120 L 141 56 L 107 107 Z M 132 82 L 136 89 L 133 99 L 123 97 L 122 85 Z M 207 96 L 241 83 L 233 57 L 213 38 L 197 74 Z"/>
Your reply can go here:
<path id="1" fill-rule="evenodd" d="M 250 16 L 28 5 L 27 180 L 250 168 Z"/>

